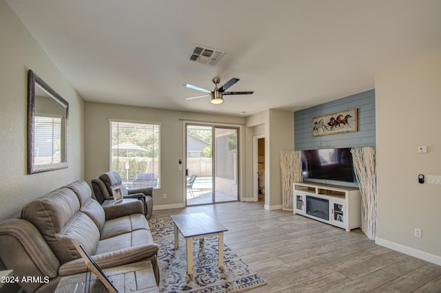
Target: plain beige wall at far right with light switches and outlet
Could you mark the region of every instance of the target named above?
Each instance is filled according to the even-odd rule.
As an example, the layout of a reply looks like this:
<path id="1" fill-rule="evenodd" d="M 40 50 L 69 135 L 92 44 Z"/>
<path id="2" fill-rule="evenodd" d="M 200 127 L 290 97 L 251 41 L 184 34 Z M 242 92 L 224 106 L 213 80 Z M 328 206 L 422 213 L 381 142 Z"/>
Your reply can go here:
<path id="1" fill-rule="evenodd" d="M 441 265 L 440 109 L 441 55 L 376 75 L 377 243 Z"/>

